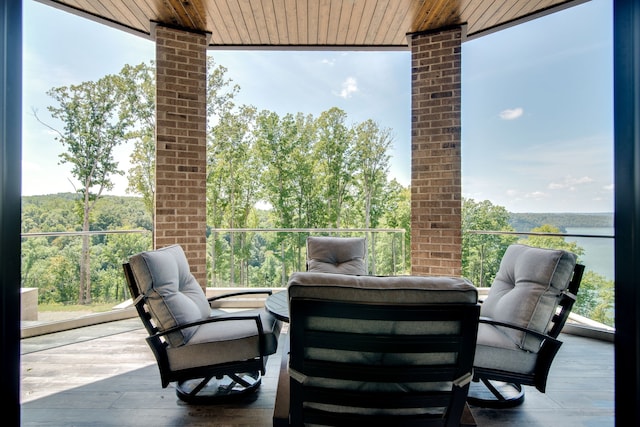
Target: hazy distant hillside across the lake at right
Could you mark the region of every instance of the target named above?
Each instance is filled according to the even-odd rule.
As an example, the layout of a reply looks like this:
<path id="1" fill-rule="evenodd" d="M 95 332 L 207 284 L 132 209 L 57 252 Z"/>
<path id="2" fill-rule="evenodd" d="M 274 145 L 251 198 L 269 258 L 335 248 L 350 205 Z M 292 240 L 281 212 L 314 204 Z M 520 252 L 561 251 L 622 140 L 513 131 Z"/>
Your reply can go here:
<path id="1" fill-rule="evenodd" d="M 613 227 L 613 213 L 510 213 L 509 223 L 520 232 L 544 224 L 566 232 L 566 227 Z"/>

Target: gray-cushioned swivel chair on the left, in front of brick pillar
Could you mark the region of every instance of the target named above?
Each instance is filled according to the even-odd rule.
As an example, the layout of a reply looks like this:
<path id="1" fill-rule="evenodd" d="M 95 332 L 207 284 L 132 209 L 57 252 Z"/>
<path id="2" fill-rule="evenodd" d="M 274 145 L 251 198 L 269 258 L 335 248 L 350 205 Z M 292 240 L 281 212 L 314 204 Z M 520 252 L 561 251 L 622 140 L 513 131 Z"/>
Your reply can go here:
<path id="1" fill-rule="evenodd" d="M 163 388 L 175 382 L 181 400 L 212 403 L 259 387 L 280 321 L 264 308 L 227 313 L 210 302 L 269 290 L 207 300 L 178 245 L 134 255 L 123 267 Z"/>

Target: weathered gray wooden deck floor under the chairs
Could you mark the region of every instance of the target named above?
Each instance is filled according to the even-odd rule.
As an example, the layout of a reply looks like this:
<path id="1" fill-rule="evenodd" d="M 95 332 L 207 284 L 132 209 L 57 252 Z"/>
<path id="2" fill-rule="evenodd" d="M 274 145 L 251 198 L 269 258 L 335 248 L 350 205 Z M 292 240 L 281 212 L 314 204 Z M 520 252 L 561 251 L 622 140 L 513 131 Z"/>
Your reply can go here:
<path id="1" fill-rule="evenodd" d="M 138 319 L 22 340 L 22 426 L 271 426 L 280 354 L 251 398 L 186 405 L 163 389 Z M 613 344 L 562 334 L 547 393 L 523 405 L 471 407 L 478 426 L 613 427 Z"/>

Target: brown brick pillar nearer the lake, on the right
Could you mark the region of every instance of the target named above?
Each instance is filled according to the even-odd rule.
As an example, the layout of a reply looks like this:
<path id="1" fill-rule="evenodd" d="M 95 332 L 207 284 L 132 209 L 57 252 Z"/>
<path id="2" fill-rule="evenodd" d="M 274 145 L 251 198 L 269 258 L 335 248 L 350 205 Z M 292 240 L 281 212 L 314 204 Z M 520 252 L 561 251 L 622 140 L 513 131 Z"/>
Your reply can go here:
<path id="1" fill-rule="evenodd" d="M 460 275 L 464 27 L 410 36 L 411 272 Z"/>

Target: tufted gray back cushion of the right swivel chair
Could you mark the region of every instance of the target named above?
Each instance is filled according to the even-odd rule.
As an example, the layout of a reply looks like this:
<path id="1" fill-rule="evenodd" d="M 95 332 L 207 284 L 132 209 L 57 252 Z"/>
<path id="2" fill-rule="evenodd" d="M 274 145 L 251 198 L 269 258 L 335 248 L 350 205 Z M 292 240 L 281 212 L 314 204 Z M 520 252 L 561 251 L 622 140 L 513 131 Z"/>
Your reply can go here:
<path id="1" fill-rule="evenodd" d="M 480 315 L 546 333 L 575 264 L 576 256 L 567 251 L 509 246 Z M 480 326 L 478 344 L 482 345 L 487 327 Z M 540 340 L 530 334 L 506 328 L 500 331 L 525 350 L 537 352 L 540 347 Z"/>

